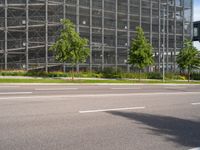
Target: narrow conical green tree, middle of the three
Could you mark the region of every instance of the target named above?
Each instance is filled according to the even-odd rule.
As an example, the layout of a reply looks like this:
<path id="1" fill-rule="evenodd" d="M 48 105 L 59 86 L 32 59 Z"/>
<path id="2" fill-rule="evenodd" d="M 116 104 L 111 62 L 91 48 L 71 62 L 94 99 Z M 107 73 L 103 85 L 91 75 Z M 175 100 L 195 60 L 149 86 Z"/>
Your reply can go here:
<path id="1" fill-rule="evenodd" d="M 142 69 L 154 63 L 152 53 L 153 48 L 145 38 L 143 29 L 141 27 L 137 27 L 136 31 L 136 38 L 131 42 L 128 63 L 139 69 L 139 78 L 141 79 Z"/>

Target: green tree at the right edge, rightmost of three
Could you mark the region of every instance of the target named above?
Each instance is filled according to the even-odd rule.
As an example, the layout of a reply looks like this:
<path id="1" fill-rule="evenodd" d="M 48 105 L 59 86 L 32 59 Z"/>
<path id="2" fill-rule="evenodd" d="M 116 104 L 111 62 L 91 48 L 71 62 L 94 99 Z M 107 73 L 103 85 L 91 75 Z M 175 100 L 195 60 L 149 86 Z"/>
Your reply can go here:
<path id="1" fill-rule="evenodd" d="M 200 67 L 200 52 L 193 46 L 192 41 L 186 40 L 183 49 L 177 56 L 177 64 L 182 71 L 188 71 L 188 82 L 192 70 Z"/>

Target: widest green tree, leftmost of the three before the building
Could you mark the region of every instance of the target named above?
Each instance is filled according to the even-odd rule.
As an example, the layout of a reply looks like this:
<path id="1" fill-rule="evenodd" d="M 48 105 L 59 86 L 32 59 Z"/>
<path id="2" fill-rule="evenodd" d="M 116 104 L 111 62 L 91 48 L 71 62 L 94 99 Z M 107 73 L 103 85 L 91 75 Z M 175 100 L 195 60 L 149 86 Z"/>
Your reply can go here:
<path id="1" fill-rule="evenodd" d="M 75 25 L 69 19 L 62 19 L 63 29 L 50 50 L 55 52 L 56 60 L 61 63 L 70 62 L 72 65 L 72 80 L 74 80 L 74 66 L 86 61 L 90 54 L 88 40 L 81 38 L 75 30 Z"/>

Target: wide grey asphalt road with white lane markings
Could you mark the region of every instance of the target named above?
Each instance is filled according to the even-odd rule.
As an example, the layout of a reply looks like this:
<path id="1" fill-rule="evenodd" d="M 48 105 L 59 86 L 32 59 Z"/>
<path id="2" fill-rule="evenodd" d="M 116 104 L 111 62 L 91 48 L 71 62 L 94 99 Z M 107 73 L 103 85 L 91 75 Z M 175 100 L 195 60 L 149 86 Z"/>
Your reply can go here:
<path id="1" fill-rule="evenodd" d="M 0 85 L 0 150 L 200 147 L 200 85 Z"/>

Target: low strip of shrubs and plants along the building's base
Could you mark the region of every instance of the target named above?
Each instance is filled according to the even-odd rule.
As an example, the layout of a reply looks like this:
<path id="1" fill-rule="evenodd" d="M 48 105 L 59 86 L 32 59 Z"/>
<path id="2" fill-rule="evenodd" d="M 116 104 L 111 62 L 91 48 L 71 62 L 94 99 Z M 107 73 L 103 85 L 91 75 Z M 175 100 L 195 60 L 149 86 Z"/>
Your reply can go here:
<path id="1" fill-rule="evenodd" d="M 72 73 L 67 72 L 37 72 L 37 71 L 1 71 L 0 76 L 29 76 L 29 77 L 71 77 Z M 82 78 L 117 78 L 117 79 L 138 79 L 139 73 L 125 73 L 121 71 L 115 71 L 115 69 L 107 68 L 102 72 L 79 72 L 74 74 L 75 77 Z M 162 79 L 162 73 L 150 72 L 141 73 L 142 79 Z M 180 75 L 175 73 L 166 73 L 166 79 L 168 80 L 187 80 L 187 75 Z M 192 80 L 200 80 L 200 73 L 192 73 Z"/>

